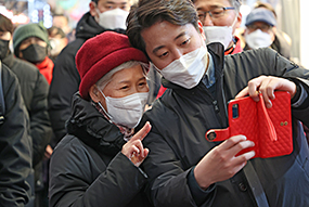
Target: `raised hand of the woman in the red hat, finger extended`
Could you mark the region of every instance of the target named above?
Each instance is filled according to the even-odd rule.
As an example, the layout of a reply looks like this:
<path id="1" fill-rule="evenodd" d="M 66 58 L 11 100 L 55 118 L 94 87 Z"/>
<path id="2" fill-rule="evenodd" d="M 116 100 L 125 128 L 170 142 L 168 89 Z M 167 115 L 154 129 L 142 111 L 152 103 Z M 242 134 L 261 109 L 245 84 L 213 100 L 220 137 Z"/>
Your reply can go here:
<path id="1" fill-rule="evenodd" d="M 146 121 L 144 127 L 123 146 L 121 153 L 137 167 L 139 167 L 149 155 L 149 150 L 143 147 L 142 141 L 147 135 L 151 128 L 151 124 Z"/>

